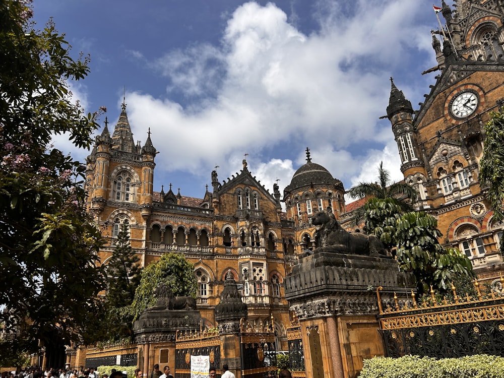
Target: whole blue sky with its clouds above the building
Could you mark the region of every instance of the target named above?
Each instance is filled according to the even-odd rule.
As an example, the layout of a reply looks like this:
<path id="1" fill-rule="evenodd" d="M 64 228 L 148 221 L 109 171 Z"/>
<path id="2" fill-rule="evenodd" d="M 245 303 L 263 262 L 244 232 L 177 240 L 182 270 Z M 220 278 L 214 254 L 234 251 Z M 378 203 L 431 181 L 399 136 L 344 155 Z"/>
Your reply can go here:
<path id="1" fill-rule="evenodd" d="M 436 65 L 425 1 L 35 0 L 37 27 L 49 17 L 75 56 L 91 56 L 74 97 L 89 112 L 107 107 L 112 131 L 125 88 L 134 139 L 150 128 L 159 151 L 154 190 L 172 183 L 183 196 L 202 198 L 213 167 L 227 179 L 245 153 L 282 191 L 306 147 L 346 189 L 374 180 L 382 160 L 402 179 L 379 119 L 389 78 L 418 108 L 438 74 L 421 75 Z M 88 154 L 64 137 L 55 145 Z"/>

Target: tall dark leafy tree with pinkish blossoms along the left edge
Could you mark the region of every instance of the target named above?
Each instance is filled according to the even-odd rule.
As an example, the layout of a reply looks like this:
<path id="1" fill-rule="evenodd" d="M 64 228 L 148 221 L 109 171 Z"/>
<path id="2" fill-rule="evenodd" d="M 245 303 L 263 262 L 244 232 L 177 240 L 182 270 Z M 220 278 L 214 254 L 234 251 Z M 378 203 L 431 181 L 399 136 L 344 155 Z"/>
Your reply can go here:
<path id="1" fill-rule="evenodd" d="M 68 133 L 89 147 L 96 114 L 72 102 L 68 81 L 84 78 L 49 22 L 36 31 L 23 1 L 0 2 L 0 365 L 22 353 L 100 334 L 102 241 L 85 209 L 85 167 L 51 149 Z"/>

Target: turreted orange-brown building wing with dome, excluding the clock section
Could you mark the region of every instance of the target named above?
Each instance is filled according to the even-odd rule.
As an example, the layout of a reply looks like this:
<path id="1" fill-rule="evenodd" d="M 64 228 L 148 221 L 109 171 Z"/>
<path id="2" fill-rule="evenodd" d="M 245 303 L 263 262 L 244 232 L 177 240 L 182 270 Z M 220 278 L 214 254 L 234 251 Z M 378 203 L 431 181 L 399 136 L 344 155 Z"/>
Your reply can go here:
<path id="1" fill-rule="evenodd" d="M 121 224 L 131 230 L 131 245 L 142 266 L 167 251 L 178 251 L 195 265 L 197 303 L 207 327 L 215 327 L 214 307 L 232 272 L 248 305 L 248 321 L 264 322 L 273 315 L 277 350 L 285 350 L 290 324 L 283 281 L 296 255 L 314 247 L 311 214 L 330 208 L 344 212 L 344 188 L 324 167 L 307 162 L 285 188 L 282 211 L 278 185 L 270 193 L 248 170 L 246 160 L 231 179 L 219 181 L 209 172 L 212 191 L 204 198 L 154 192 L 154 148 L 150 134 L 135 145 L 126 112 L 110 136 L 107 125 L 87 159 L 88 207 L 107 239 L 100 251 L 107 264 Z"/>

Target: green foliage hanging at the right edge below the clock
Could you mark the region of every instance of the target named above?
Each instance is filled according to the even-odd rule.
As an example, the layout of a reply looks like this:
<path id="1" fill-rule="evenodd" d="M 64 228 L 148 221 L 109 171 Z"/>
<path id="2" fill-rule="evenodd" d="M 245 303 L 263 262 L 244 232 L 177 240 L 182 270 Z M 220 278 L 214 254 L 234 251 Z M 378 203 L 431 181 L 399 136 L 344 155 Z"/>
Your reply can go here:
<path id="1" fill-rule="evenodd" d="M 493 210 L 493 219 L 504 221 L 504 114 L 491 112 L 491 119 L 485 124 L 485 146 L 481 158 L 479 179 L 486 186 L 486 197 Z M 504 243 L 499 245 L 504 257 Z"/>

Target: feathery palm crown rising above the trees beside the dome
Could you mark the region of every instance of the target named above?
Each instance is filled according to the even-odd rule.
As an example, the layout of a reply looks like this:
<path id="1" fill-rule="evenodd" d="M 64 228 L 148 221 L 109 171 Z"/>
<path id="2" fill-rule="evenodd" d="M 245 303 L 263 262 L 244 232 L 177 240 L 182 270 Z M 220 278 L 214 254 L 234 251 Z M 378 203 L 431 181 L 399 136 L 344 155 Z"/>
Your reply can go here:
<path id="1" fill-rule="evenodd" d="M 383 161 L 378 167 L 378 176 L 376 182 L 359 182 L 351 187 L 347 194 L 354 198 L 393 198 L 403 211 L 413 210 L 412 204 L 415 203 L 418 194 L 414 187 L 404 181 L 391 182 L 390 173 L 383 167 Z"/>

